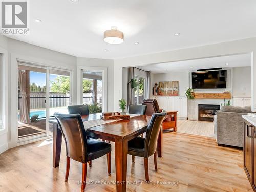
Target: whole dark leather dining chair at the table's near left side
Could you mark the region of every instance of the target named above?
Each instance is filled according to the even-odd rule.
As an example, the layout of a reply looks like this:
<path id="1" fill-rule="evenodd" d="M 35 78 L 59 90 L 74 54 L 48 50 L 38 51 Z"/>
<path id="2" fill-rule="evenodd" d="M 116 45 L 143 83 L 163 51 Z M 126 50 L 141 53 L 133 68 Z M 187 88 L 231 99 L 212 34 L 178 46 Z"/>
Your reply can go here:
<path id="1" fill-rule="evenodd" d="M 70 159 L 82 163 L 81 191 L 86 188 L 87 163 L 106 154 L 108 174 L 111 173 L 111 144 L 87 138 L 80 114 L 54 113 L 66 144 L 66 175 L 68 181 Z"/>

